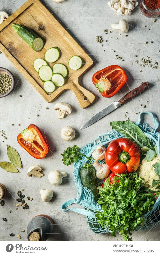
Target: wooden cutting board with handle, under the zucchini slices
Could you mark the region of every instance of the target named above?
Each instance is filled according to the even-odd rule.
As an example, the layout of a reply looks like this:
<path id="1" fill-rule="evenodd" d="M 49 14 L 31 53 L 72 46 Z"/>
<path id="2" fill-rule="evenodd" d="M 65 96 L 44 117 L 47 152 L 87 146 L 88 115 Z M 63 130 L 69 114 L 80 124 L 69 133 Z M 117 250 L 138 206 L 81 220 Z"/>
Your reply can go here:
<path id="1" fill-rule="evenodd" d="M 41 52 L 35 52 L 18 36 L 12 29 L 13 22 L 35 30 L 38 35 L 44 38 L 45 45 Z M 43 82 L 40 80 L 38 72 L 33 68 L 33 62 L 35 58 L 44 59 L 46 50 L 54 46 L 58 46 L 62 52 L 57 63 L 62 63 L 68 67 L 69 58 L 73 55 L 79 55 L 85 64 L 77 71 L 68 67 L 69 75 L 66 84 L 49 94 L 43 90 Z M 0 50 L 47 102 L 52 102 L 65 90 L 74 92 L 82 108 L 88 107 L 95 100 L 94 94 L 80 86 L 78 82 L 79 77 L 94 64 L 92 59 L 40 1 L 28 0 L 0 24 Z M 51 68 L 53 64 L 55 62 L 49 64 Z"/>

